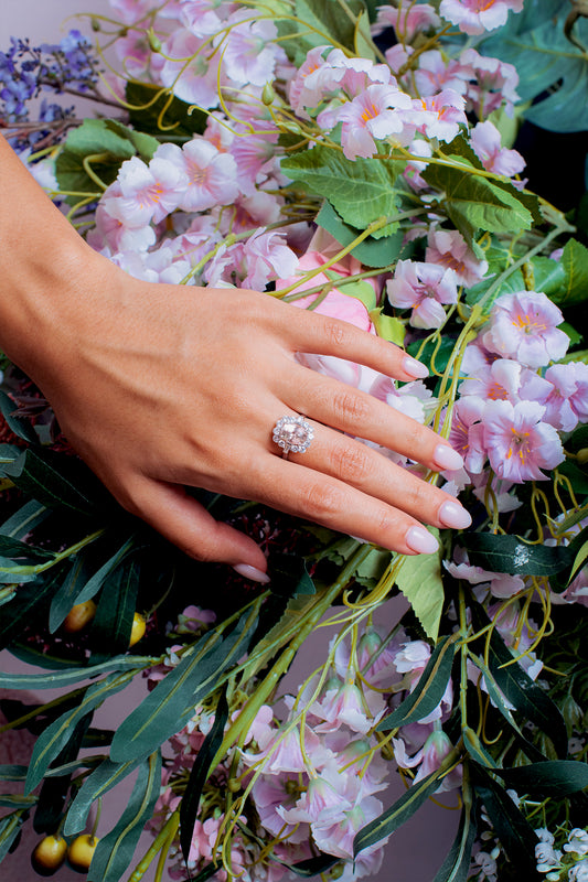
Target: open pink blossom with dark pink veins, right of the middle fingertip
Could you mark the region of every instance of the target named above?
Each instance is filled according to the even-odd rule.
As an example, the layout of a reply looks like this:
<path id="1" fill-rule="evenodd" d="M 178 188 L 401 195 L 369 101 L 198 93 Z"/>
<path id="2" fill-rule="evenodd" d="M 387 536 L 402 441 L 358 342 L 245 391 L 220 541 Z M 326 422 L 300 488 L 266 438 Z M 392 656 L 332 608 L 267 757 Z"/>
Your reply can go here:
<path id="1" fill-rule="evenodd" d="M 484 410 L 484 444 L 499 477 L 515 484 L 545 481 L 542 469 L 555 469 L 564 451 L 553 426 L 542 422 L 545 408 L 536 401 L 488 401 Z"/>

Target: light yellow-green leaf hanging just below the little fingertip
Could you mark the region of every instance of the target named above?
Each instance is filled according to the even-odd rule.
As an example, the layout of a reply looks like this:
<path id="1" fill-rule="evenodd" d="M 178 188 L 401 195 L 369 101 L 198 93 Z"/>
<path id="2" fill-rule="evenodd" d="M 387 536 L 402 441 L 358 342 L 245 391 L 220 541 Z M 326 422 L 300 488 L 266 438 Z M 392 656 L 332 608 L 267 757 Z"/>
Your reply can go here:
<path id="1" fill-rule="evenodd" d="M 396 584 L 431 641 L 437 639 L 445 603 L 440 555 L 439 550 L 435 555 L 405 557 L 396 577 Z"/>

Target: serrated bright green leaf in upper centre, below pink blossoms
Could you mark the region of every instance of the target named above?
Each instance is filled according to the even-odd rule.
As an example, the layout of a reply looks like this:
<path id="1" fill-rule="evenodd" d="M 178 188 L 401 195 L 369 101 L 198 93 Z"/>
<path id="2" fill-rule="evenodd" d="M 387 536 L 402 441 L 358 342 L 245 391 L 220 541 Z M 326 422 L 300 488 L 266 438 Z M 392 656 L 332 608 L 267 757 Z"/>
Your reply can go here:
<path id="1" fill-rule="evenodd" d="M 404 163 L 377 159 L 346 159 L 318 144 L 282 160 L 281 170 L 304 190 L 329 200 L 341 218 L 360 230 L 381 217 L 396 214 L 398 191 L 394 184 Z M 388 236 L 397 224 L 388 224 Z"/>

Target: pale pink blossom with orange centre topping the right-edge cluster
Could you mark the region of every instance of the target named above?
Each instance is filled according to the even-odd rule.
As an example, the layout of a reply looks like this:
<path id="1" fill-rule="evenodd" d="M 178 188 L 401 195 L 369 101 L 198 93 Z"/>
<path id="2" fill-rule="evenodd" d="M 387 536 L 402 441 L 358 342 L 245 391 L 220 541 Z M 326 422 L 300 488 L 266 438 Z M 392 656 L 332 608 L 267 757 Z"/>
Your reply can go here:
<path id="1" fill-rule="evenodd" d="M 503 294 L 494 302 L 482 342 L 499 355 L 542 367 L 566 354 L 569 337 L 557 329 L 563 321 L 559 308 L 542 292 Z"/>

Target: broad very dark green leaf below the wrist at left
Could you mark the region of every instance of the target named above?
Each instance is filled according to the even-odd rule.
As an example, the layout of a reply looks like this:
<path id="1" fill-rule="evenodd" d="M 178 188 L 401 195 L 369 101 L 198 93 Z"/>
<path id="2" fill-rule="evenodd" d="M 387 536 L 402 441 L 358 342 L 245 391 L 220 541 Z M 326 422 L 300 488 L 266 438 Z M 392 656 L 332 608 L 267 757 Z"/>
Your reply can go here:
<path id="1" fill-rule="evenodd" d="M 107 493 L 98 478 L 78 460 L 50 450 L 25 450 L 4 466 L 13 483 L 47 508 L 67 508 L 93 515 Z"/>

